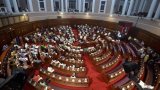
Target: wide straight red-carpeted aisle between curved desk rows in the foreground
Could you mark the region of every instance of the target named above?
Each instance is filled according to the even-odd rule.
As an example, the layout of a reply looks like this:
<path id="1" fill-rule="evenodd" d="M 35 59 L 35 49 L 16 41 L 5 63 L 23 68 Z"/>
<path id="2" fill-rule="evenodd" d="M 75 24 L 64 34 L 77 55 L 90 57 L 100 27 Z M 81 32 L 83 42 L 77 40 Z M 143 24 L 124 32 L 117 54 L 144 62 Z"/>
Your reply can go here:
<path id="1" fill-rule="evenodd" d="M 87 76 L 92 79 L 89 90 L 107 90 L 107 84 L 100 80 L 100 73 L 95 70 L 95 67 L 91 63 L 91 60 L 89 60 L 88 55 L 83 55 L 83 59 L 88 69 Z"/>

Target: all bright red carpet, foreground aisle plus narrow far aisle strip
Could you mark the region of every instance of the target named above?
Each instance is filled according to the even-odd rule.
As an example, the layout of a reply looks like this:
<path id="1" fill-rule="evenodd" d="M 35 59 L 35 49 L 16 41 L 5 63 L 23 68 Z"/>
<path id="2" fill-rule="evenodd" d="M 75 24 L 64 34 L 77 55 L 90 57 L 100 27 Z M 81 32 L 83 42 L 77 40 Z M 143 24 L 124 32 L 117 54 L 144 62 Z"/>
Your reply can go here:
<path id="1" fill-rule="evenodd" d="M 73 33 L 74 33 L 75 39 L 78 39 L 78 37 L 79 37 L 78 30 L 73 29 Z M 76 41 L 76 42 L 74 42 L 73 45 L 76 46 L 78 44 L 79 44 L 79 42 Z M 99 73 L 96 70 L 95 66 L 92 64 L 91 60 L 89 59 L 89 56 L 87 54 L 84 54 L 82 58 L 83 58 L 85 65 L 88 69 L 87 76 L 91 79 L 90 86 L 87 88 L 76 88 L 76 87 L 69 87 L 69 86 L 60 85 L 60 84 L 51 82 L 50 84 L 51 84 L 51 86 L 53 86 L 53 88 L 55 90 L 109 90 L 109 89 L 107 89 L 108 85 L 103 81 L 103 78 L 101 77 L 101 73 Z M 29 86 L 29 85 L 27 85 L 27 86 Z M 29 90 L 29 88 L 26 87 L 26 89 L 24 89 L 24 90 Z"/>

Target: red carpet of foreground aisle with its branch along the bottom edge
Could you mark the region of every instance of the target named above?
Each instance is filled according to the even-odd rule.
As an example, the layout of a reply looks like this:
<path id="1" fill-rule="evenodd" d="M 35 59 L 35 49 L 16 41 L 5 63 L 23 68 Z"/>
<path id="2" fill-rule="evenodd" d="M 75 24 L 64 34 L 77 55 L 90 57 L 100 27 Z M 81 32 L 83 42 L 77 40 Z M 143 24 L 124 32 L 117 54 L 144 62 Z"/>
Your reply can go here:
<path id="1" fill-rule="evenodd" d="M 63 89 L 69 89 L 69 90 L 109 90 L 107 89 L 107 84 L 103 82 L 103 78 L 101 77 L 101 73 L 96 71 L 95 66 L 91 63 L 91 60 L 89 59 L 88 55 L 83 55 L 83 59 L 85 61 L 86 67 L 88 69 L 87 76 L 91 79 L 90 87 L 86 88 L 78 88 L 78 87 L 70 87 L 61 85 L 58 83 L 51 82 L 50 84 L 54 87 L 60 87 Z M 24 87 L 24 90 L 34 90 L 34 87 L 32 85 L 26 84 Z"/>

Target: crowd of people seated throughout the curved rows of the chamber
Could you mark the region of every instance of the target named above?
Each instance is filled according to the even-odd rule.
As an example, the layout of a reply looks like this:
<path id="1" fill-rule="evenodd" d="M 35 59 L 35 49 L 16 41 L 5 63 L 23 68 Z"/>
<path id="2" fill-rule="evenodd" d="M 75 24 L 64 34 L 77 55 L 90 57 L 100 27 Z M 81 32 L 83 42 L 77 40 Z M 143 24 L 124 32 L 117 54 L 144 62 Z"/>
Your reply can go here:
<path id="1" fill-rule="evenodd" d="M 75 35 L 73 28 L 77 30 L 78 37 Z M 122 53 L 128 50 L 127 46 L 126 50 L 123 50 L 123 46 L 120 46 L 122 42 L 126 41 L 113 38 L 112 33 L 115 32 L 110 32 L 103 27 L 87 24 L 74 25 L 73 27 L 70 25 L 61 25 L 51 28 L 37 28 L 36 32 L 24 36 L 24 43 L 21 42 L 20 45 L 13 45 L 10 55 L 7 57 L 8 70 L 12 74 L 18 67 L 24 70 L 34 68 L 37 71 L 43 68 L 51 74 L 58 73 L 63 76 L 64 73 L 58 72 L 58 69 L 62 69 L 66 72 L 71 72 L 69 73 L 69 77 L 80 78 L 81 76 L 78 76 L 79 73 L 87 72 L 82 58 L 84 53 L 88 53 L 91 56 L 98 56 L 99 53 L 103 52 L 103 49 L 110 50 L 111 52 L 107 55 L 103 54 L 103 57 L 95 58 L 96 61 L 101 61 L 113 54 L 113 52 Z M 118 36 L 120 36 L 120 32 L 118 32 Z M 159 60 L 159 54 L 154 52 L 150 47 L 145 48 L 144 42 L 140 42 L 132 37 L 128 38 L 128 42 L 134 51 L 137 52 L 137 56 L 143 59 L 143 62 L 146 62 L 147 65 L 151 65 Z M 75 45 L 75 43 L 78 44 Z M 137 48 L 137 46 L 134 47 L 132 44 L 136 44 L 140 48 Z M 123 56 L 123 54 L 121 55 Z M 134 57 L 134 55 L 130 56 Z M 83 76 L 87 78 L 86 75 Z M 34 84 L 39 83 L 49 88 L 50 78 L 45 79 L 41 74 L 34 73 L 30 83 L 34 81 Z M 89 82 L 88 78 L 87 82 Z"/>

